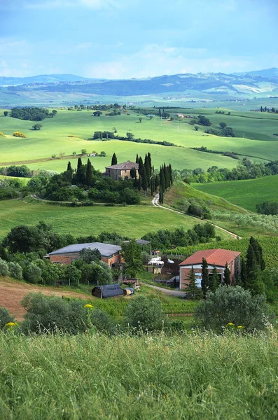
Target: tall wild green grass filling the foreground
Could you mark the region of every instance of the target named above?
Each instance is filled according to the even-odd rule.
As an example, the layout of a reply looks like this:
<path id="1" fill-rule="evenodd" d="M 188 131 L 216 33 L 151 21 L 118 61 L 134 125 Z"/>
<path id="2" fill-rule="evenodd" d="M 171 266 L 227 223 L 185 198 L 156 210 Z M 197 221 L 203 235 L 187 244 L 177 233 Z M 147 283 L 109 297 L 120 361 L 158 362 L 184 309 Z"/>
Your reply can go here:
<path id="1" fill-rule="evenodd" d="M 277 334 L 0 335 L 1 419 L 277 419 Z"/>

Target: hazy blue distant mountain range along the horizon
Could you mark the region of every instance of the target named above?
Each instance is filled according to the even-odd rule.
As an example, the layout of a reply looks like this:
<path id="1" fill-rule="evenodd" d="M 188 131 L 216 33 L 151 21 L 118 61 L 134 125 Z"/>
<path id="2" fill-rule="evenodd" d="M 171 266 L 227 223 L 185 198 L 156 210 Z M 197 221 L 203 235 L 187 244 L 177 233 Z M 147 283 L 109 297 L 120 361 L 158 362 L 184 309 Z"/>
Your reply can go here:
<path id="1" fill-rule="evenodd" d="M 88 79 L 72 74 L 50 74 L 28 78 L 0 77 L 0 104 L 23 101 L 54 102 L 62 98 L 92 100 L 93 97 L 161 95 L 184 99 L 242 99 L 278 97 L 278 69 L 246 73 L 183 73 L 144 79 Z M 101 98 L 99 98 L 102 100 Z"/>

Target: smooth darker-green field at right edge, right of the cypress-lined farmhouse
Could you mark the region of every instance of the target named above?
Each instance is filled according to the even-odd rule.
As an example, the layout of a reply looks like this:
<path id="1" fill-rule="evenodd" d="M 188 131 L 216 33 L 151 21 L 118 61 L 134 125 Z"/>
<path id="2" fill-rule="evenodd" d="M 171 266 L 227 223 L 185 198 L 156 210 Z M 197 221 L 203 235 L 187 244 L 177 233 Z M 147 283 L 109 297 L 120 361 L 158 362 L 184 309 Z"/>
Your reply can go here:
<path id="1" fill-rule="evenodd" d="M 195 183 L 193 186 L 203 193 L 223 197 L 225 200 L 251 211 L 256 211 L 256 204 L 264 201 L 278 201 L 278 175 L 243 181 Z"/>

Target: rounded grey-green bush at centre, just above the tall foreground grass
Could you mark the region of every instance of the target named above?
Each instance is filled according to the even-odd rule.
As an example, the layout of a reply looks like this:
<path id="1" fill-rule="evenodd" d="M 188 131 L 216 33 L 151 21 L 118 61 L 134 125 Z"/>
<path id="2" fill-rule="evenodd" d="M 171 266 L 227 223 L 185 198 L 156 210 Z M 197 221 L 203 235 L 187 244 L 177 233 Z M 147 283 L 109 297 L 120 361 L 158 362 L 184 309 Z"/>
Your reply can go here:
<path id="1" fill-rule="evenodd" d="M 142 332 L 160 331 L 167 326 L 160 300 L 151 300 L 146 296 L 136 297 L 127 305 L 123 322 Z"/>

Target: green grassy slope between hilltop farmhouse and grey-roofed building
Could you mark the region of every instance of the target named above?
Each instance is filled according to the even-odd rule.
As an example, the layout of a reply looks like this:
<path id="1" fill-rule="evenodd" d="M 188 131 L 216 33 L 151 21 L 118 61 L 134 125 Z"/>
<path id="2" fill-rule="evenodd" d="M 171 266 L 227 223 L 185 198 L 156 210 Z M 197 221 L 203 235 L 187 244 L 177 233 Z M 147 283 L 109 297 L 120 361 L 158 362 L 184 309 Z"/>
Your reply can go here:
<path id="1" fill-rule="evenodd" d="M 30 198 L 0 202 L 0 237 L 18 225 L 36 225 L 47 221 L 55 231 L 74 236 L 118 232 L 128 237 L 142 237 L 159 229 L 186 230 L 196 223 L 195 218 L 155 207 L 64 207 L 38 202 Z"/>

